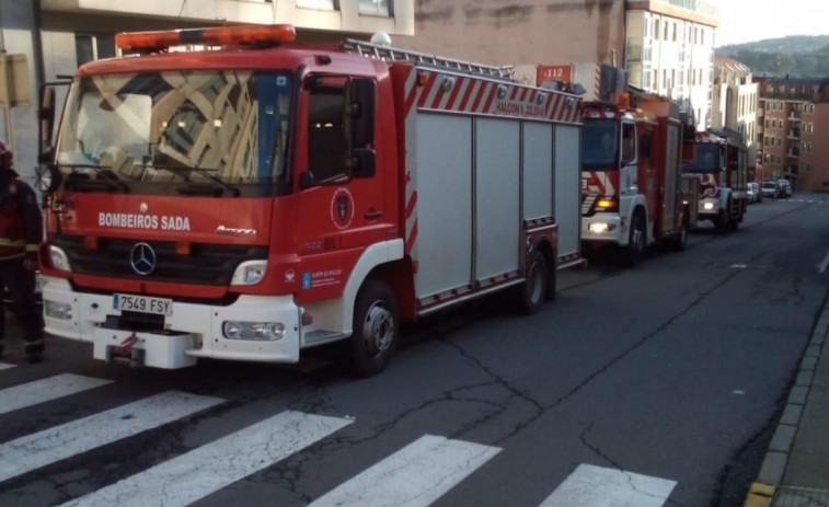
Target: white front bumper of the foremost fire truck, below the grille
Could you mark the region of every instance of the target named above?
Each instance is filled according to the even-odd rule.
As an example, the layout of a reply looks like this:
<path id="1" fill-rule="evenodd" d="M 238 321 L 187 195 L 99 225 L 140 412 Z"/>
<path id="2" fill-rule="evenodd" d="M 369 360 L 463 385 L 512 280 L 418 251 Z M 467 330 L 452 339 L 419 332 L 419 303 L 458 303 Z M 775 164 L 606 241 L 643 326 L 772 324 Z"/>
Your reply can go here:
<path id="1" fill-rule="evenodd" d="M 62 278 L 44 277 L 44 321 L 47 333 L 92 342 L 96 359 L 112 360 L 127 341 L 127 359 L 158 368 L 192 366 L 199 357 L 243 361 L 297 362 L 299 360 L 300 309 L 291 296 L 241 296 L 227 307 L 173 301 L 172 314 L 163 316 L 163 330 L 134 332 L 114 329 L 122 312 L 113 308 L 112 295 L 73 291 Z M 49 315 L 47 307 L 62 304 L 62 318 Z M 110 322 L 107 323 L 107 316 Z M 116 319 L 113 319 L 116 318 Z M 226 321 L 280 322 L 285 335 L 278 341 L 228 339 Z M 133 350 L 139 350 L 133 353 Z M 122 347 L 119 353 L 124 352 Z"/>

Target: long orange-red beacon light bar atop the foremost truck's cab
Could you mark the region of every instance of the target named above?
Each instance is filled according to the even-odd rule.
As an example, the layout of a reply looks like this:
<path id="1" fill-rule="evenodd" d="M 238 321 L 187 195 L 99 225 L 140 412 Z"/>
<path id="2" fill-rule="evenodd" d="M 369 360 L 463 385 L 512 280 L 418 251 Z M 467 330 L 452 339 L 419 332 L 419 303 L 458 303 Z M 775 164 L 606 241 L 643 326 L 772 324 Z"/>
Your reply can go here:
<path id="1" fill-rule="evenodd" d="M 125 32 L 115 36 L 119 49 L 134 51 L 163 50 L 185 44 L 276 45 L 292 43 L 297 31 L 290 24 L 217 26 L 212 28 Z"/>

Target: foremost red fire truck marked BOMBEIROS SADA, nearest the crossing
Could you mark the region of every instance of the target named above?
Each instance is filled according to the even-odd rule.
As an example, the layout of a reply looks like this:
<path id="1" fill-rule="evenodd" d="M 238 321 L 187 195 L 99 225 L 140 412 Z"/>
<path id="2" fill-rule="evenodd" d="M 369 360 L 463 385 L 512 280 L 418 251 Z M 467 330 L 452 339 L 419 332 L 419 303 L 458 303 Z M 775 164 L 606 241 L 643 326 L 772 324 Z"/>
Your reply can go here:
<path id="1" fill-rule="evenodd" d="M 160 368 L 347 341 L 369 376 L 400 321 L 506 289 L 528 313 L 554 297 L 578 256 L 578 96 L 293 38 L 119 34 L 140 56 L 79 69 L 42 157 L 49 333 Z M 185 44 L 222 48 L 170 50 Z"/>

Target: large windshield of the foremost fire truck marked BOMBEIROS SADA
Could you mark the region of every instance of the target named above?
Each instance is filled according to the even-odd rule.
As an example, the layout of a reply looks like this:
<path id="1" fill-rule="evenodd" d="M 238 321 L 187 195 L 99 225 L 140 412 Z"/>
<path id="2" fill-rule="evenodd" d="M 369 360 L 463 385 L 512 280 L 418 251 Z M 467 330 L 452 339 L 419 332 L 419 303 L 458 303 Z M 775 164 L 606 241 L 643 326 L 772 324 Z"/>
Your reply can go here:
<path id="1" fill-rule="evenodd" d="M 57 163 L 68 176 L 153 192 L 285 188 L 292 80 L 272 71 L 84 77 L 67 97 Z M 85 176 L 84 176 L 85 175 Z"/>

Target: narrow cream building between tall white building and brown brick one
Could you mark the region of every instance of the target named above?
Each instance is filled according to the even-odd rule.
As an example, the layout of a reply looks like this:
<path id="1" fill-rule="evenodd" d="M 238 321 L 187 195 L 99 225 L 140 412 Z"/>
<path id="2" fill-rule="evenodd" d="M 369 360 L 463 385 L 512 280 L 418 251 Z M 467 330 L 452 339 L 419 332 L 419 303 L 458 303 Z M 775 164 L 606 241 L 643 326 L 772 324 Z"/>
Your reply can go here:
<path id="1" fill-rule="evenodd" d="M 751 69 L 723 55 L 714 57 L 711 127 L 738 132 L 748 148 L 749 178 L 756 178 L 758 84 Z"/>

